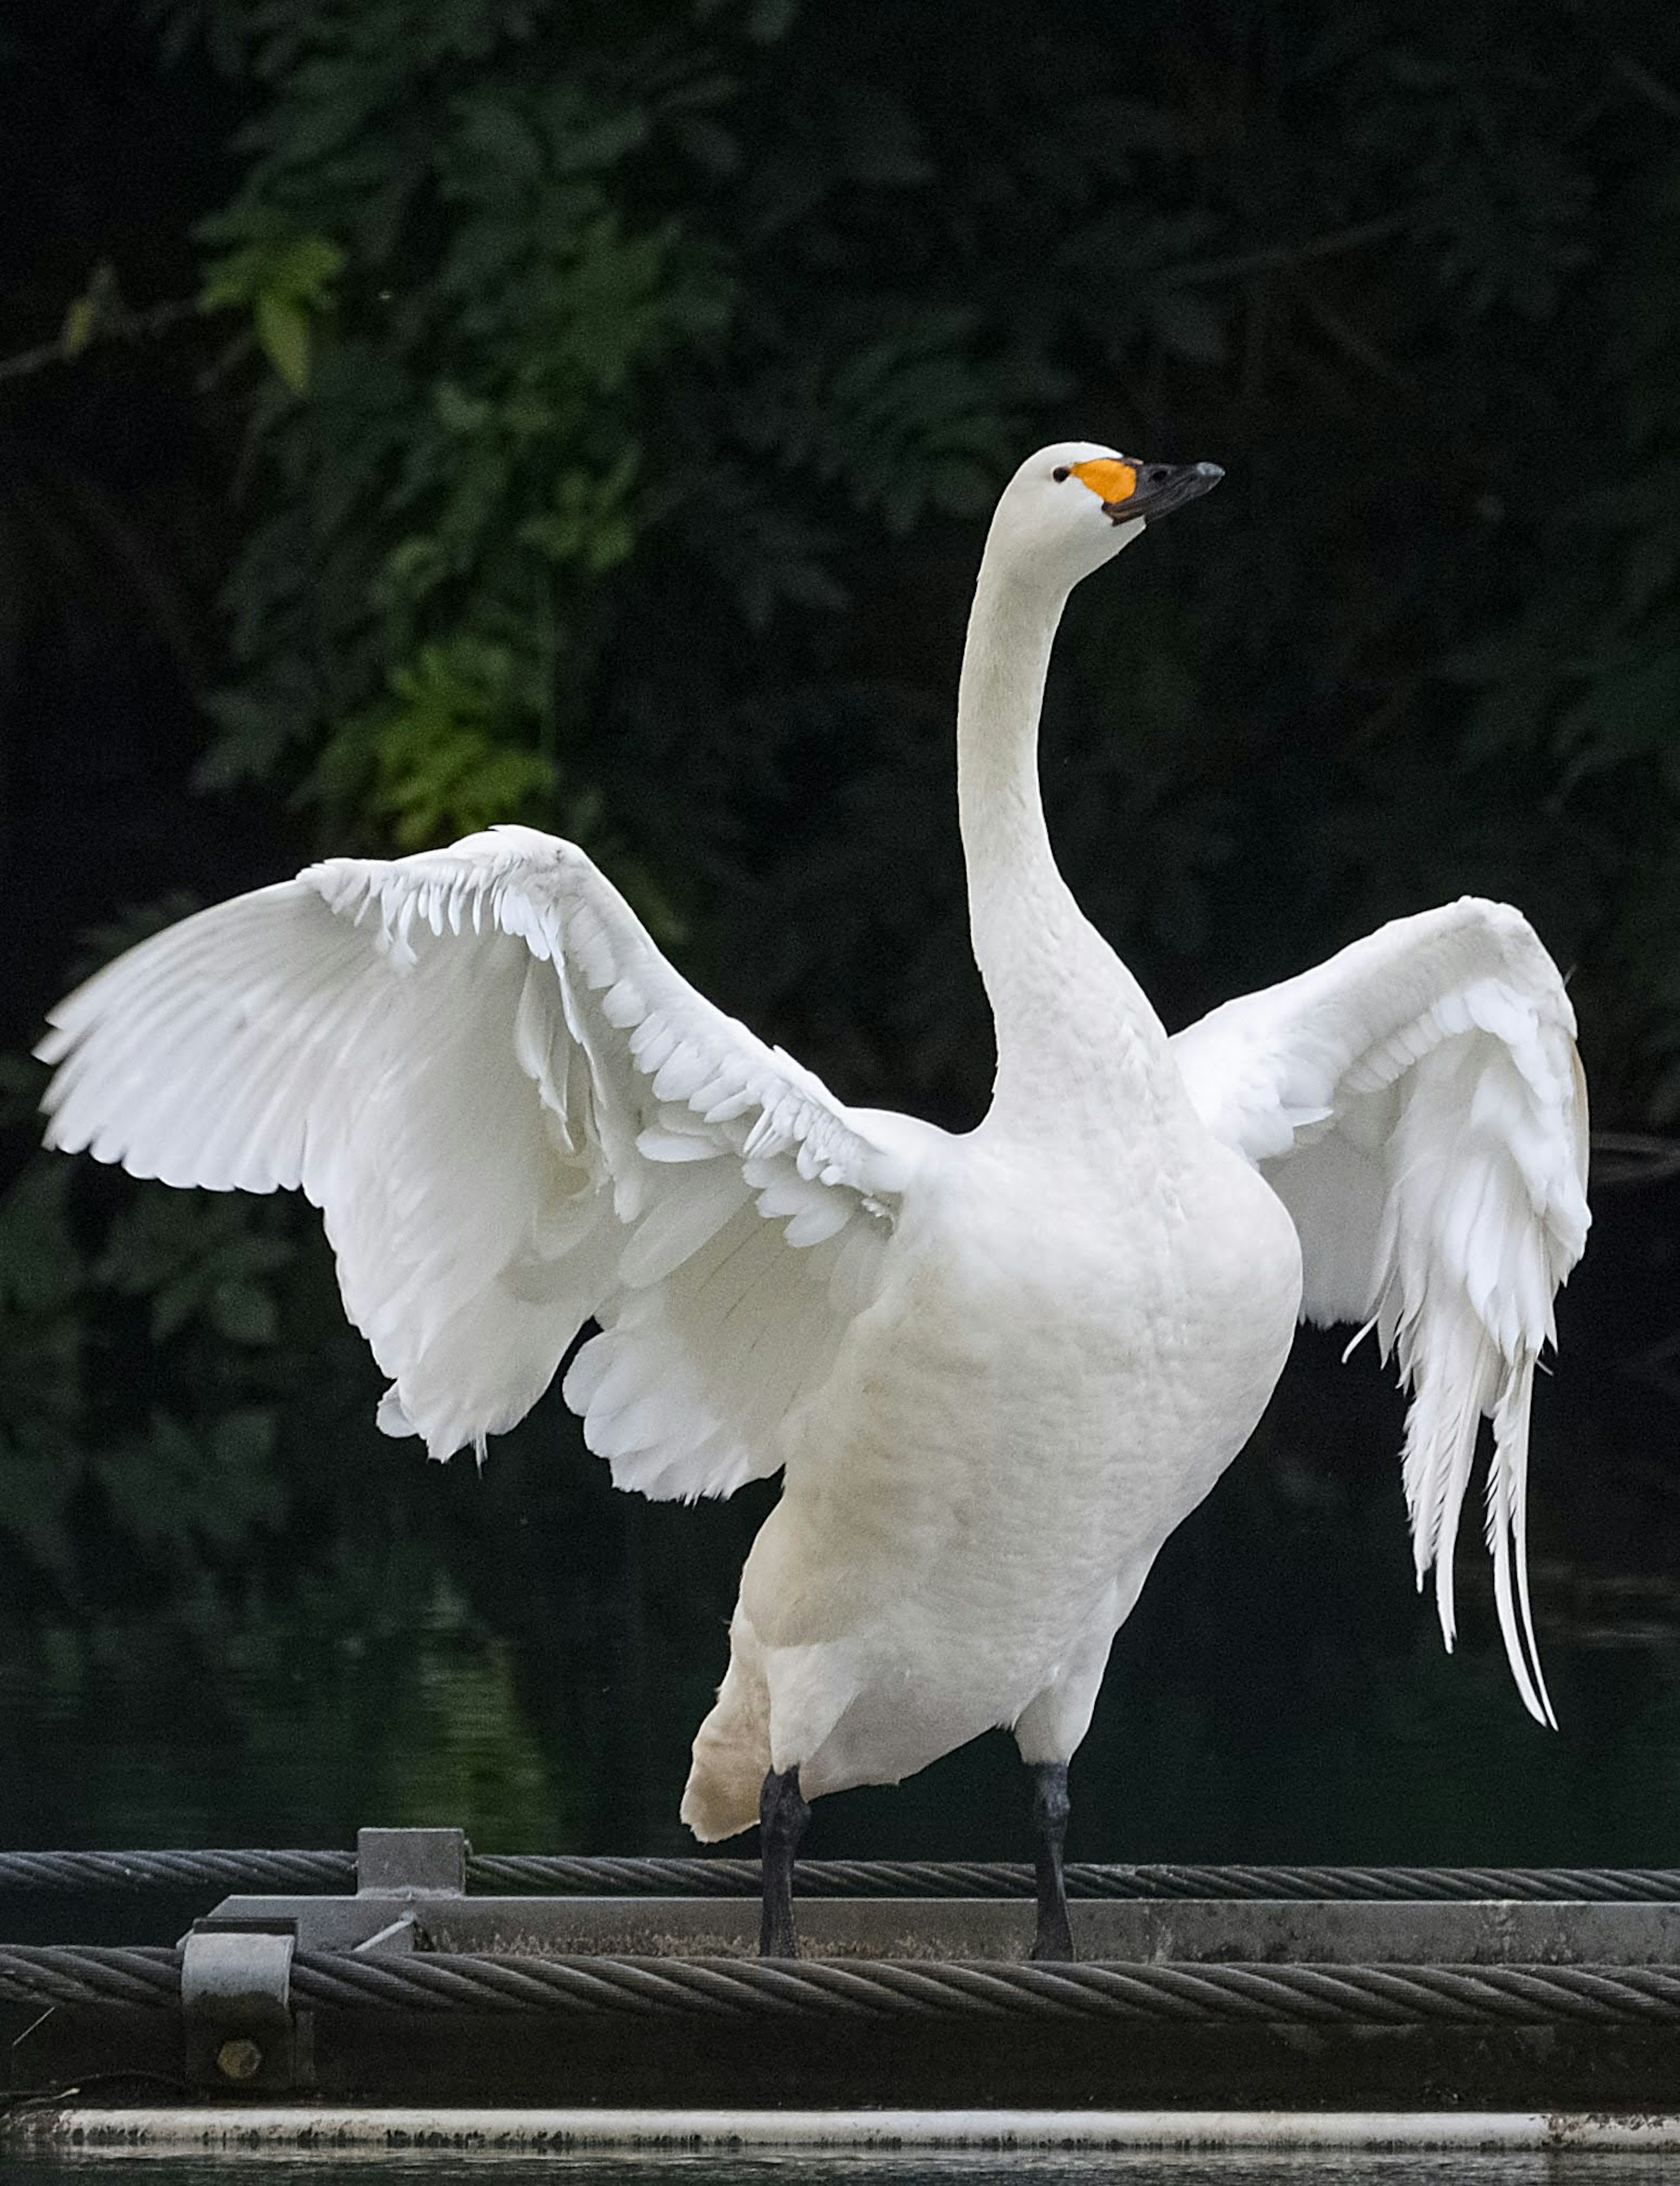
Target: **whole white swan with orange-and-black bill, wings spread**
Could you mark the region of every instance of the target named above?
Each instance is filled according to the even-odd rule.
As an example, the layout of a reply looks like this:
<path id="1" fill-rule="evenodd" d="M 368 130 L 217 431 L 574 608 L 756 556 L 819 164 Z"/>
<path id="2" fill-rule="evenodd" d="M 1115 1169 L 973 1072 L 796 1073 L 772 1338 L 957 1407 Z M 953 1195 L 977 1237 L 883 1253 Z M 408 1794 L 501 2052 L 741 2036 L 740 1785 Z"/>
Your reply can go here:
<path id="1" fill-rule="evenodd" d="M 483 1445 L 593 1314 L 564 1395 L 619 1486 L 783 1471 L 682 1799 L 702 1838 L 763 1819 L 770 1952 L 794 1948 L 805 1795 L 991 1725 L 1037 1775 L 1037 1952 L 1072 1952 L 1065 1775 L 1109 1642 L 1297 1314 L 1398 1351 L 1448 1646 L 1492 1414 L 1498 1618 L 1551 1718 L 1527 1414 L 1588 1220 L 1555 966 L 1518 912 L 1466 898 L 1168 1041 L 1050 855 L 1037 724 L 1068 592 L 1216 479 L 1072 444 L 998 503 L 958 697 L 998 1030 L 967 1137 L 842 1106 L 687 986 L 582 850 L 516 826 L 188 918 L 42 1045 L 52 1145 L 322 1207 L 387 1432 Z"/>

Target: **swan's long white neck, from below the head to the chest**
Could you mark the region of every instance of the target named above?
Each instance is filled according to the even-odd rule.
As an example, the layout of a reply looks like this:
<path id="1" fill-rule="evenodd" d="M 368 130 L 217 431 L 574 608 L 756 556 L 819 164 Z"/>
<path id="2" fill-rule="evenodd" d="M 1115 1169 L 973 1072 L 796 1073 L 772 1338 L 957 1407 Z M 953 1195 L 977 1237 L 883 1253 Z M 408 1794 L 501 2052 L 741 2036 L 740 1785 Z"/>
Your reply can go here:
<path id="1" fill-rule="evenodd" d="M 1181 1100 L 1144 990 L 1074 903 L 1039 796 L 1039 713 L 1065 592 L 980 564 L 956 700 L 956 791 L 973 955 L 998 1030 L 991 1119 L 1124 1124 Z"/>

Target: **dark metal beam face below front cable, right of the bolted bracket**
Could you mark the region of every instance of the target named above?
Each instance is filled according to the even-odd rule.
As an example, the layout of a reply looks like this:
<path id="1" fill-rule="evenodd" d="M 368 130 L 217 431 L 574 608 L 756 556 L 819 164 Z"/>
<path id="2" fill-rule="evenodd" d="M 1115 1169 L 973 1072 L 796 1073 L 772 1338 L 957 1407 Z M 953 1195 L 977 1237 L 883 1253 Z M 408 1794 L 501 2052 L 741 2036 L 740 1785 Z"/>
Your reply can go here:
<path id="1" fill-rule="evenodd" d="M 326 2101 L 1601 2109 L 1673 2101 L 1671 2026 L 693 2020 L 315 2011 Z"/>

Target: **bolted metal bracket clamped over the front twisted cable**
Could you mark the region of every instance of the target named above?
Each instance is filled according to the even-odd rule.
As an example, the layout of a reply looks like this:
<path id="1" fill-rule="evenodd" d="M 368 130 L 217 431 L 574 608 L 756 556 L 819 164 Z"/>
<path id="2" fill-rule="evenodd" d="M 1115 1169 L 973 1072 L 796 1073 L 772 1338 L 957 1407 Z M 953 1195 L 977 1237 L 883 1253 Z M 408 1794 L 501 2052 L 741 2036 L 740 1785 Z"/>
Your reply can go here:
<path id="1" fill-rule="evenodd" d="M 182 1937 L 186 2077 L 271 2094 L 313 2079 L 311 2015 L 291 2009 L 293 1919 L 201 1919 Z"/>

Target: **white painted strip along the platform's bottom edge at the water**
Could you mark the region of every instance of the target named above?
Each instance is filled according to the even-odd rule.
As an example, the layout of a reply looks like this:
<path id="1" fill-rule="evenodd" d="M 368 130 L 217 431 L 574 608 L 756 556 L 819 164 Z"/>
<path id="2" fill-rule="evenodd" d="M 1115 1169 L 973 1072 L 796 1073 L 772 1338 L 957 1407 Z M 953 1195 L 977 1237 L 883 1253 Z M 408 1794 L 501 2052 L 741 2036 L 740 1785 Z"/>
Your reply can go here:
<path id="1" fill-rule="evenodd" d="M 18 2112 L 0 2144 L 462 2149 L 1680 2149 L 1680 2112 L 424 2109 L 315 2103 Z"/>

